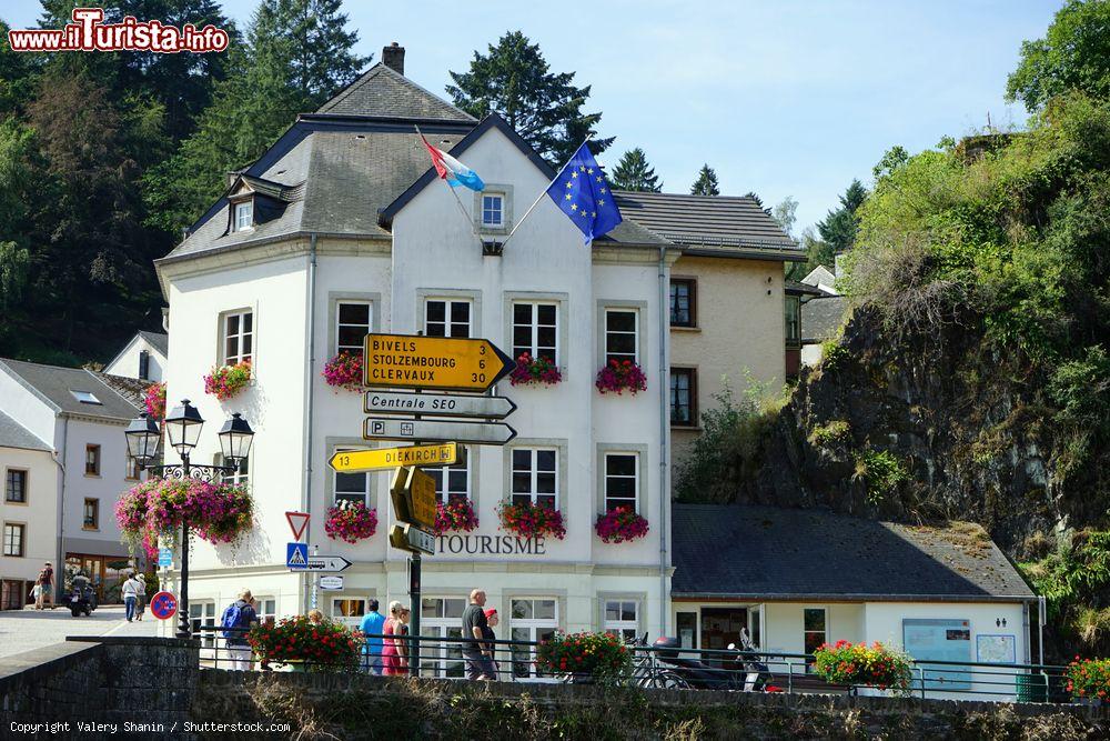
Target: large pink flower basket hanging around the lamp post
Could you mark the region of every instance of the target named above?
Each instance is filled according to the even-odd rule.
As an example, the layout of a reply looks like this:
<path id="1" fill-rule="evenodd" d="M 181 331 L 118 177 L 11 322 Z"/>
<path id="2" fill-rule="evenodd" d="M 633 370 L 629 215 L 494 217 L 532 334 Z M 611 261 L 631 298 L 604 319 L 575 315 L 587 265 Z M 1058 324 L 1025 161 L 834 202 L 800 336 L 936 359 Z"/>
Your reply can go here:
<path id="1" fill-rule="evenodd" d="M 150 479 L 120 497 L 115 521 L 132 554 L 142 547 L 157 558 L 159 538 L 175 541 L 185 522 L 210 543 L 238 543 L 253 524 L 254 500 L 242 485 Z"/>

